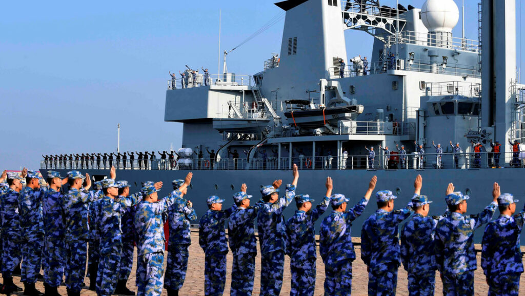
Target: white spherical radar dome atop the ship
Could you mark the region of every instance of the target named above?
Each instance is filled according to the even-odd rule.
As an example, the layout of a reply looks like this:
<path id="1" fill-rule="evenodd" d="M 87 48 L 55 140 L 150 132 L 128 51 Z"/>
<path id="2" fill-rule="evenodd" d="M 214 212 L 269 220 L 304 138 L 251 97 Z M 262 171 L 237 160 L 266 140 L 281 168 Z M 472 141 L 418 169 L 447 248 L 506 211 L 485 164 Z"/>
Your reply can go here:
<path id="1" fill-rule="evenodd" d="M 421 7 L 421 21 L 428 32 L 452 33 L 459 21 L 459 9 L 454 0 L 427 0 Z"/>

